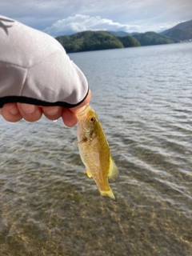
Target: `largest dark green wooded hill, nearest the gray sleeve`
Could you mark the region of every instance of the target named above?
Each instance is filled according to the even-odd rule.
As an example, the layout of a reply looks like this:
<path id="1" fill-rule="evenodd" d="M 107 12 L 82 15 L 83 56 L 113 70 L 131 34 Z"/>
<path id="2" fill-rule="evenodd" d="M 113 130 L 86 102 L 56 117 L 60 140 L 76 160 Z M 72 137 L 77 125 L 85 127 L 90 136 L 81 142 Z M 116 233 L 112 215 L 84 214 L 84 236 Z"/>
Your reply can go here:
<path id="1" fill-rule="evenodd" d="M 84 31 L 56 39 L 65 48 L 66 53 L 140 46 L 140 43 L 131 36 L 121 39 L 105 31 Z"/>

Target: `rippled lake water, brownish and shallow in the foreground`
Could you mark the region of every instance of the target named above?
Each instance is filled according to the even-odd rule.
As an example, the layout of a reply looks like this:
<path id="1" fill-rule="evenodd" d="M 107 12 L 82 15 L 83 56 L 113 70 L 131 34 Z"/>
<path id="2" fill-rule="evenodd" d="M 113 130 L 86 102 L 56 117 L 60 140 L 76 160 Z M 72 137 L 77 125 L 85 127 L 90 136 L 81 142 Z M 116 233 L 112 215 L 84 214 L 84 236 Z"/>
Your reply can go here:
<path id="1" fill-rule="evenodd" d="M 0 255 L 192 255 L 192 43 L 70 54 L 120 176 L 102 198 L 77 127 L 0 118 Z"/>

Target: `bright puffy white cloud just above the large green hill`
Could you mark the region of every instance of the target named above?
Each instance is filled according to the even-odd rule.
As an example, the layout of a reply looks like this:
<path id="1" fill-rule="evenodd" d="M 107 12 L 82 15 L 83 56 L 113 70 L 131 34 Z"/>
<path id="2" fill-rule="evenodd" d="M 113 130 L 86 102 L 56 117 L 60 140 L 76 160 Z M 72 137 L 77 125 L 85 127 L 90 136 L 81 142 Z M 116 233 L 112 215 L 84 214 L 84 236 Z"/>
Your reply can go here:
<path id="1" fill-rule="evenodd" d="M 134 32 L 139 30 L 139 26 L 130 26 L 119 22 L 113 22 L 100 16 L 90 17 L 90 15 L 76 14 L 69 18 L 63 18 L 47 27 L 44 32 L 54 37 L 65 34 L 74 34 L 86 30 L 111 30 Z"/>

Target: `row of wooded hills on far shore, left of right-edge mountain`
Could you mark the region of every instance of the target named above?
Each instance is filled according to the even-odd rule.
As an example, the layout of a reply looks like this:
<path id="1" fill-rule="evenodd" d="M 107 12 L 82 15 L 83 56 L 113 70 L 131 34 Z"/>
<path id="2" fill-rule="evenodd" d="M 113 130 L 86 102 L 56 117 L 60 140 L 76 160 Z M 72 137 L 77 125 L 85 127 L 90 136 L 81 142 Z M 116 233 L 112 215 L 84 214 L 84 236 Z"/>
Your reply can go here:
<path id="1" fill-rule="evenodd" d="M 106 31 L 84 31 L 56 39 L 65 48 L 66 53 L 174 43 L 171 38 L 155 32 L 118 37 Z"/>

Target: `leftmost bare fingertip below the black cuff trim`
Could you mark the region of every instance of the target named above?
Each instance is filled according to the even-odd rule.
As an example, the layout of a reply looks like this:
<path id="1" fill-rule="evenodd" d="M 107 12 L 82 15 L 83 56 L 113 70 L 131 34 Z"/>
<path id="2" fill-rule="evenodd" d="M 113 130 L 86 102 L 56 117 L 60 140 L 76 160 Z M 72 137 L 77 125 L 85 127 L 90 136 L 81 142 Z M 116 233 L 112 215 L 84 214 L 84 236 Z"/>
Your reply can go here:
<path id="1" fill-rule="evenodd" d="M 8 122 L 18 122 L 22 119 L 17 103 L 6 103 L 2 106 L 2 117 Z"/>

